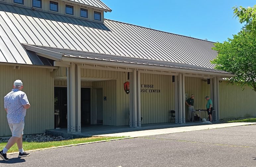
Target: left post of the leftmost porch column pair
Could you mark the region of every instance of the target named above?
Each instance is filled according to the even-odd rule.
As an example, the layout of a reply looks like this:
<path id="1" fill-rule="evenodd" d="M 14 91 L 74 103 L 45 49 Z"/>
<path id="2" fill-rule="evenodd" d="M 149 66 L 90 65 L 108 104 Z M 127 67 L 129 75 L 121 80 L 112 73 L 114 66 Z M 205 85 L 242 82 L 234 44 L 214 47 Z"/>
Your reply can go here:
<path id="1" fill-rule="evenodd" d="M 76 132 L 75 64 L 67 67 L 68 132 Z"/>

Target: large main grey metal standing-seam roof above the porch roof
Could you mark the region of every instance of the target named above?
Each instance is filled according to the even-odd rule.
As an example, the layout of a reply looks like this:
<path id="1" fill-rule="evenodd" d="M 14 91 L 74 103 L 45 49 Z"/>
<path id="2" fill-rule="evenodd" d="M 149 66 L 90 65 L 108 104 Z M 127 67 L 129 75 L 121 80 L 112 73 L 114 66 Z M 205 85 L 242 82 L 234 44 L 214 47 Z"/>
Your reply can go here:
<path id="1" fill-rule="evenodd" d="M 0 3 L 0 62 L 32 64 L 21 43 L 214 68 L 214 42 L 119 21 L 104 24 Z"/>

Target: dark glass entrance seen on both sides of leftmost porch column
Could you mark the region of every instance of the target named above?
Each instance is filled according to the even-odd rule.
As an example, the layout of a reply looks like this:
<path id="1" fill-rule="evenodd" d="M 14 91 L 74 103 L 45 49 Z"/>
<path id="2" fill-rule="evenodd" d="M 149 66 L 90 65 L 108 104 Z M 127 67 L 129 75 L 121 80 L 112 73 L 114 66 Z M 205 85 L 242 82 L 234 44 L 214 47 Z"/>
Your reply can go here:
<path id="1" fill-rule="evenodd" d="M 55 128 L 66 128 L 68 122 L 67 88 L 54 87 Z M 91 88 L 81 88 L 81 126 L 91 124 Z"/>

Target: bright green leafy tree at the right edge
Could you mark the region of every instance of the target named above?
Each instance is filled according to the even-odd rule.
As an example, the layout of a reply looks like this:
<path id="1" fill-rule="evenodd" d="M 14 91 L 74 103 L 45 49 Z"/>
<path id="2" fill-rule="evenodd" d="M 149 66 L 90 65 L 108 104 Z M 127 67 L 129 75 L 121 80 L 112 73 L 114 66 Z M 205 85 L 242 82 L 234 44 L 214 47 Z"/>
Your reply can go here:
<path id="1" fill-rule="evenodd" d="M 240 23 L 246 22 L 233 39 L 215 43 L 213 50 L 218 56 L 212 61 L 216 69 L 235 74 L 231 83 L 249 85 L 256 92 L 256 5 L 254 7 L 234 7 L 234 16 Z"/>

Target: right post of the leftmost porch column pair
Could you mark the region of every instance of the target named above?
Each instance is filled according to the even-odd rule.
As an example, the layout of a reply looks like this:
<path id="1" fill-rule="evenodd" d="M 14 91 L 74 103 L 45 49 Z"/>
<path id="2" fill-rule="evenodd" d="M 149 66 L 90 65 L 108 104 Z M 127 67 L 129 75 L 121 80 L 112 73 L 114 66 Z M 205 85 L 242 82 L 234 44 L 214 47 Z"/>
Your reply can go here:
<path id="1" fill-rule="evenodd" d="M 81 132 L 81 68 L 75 65 L 76 132 Z"/>

